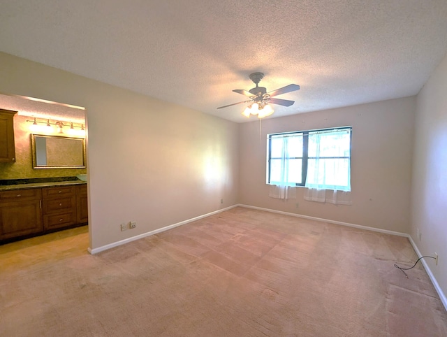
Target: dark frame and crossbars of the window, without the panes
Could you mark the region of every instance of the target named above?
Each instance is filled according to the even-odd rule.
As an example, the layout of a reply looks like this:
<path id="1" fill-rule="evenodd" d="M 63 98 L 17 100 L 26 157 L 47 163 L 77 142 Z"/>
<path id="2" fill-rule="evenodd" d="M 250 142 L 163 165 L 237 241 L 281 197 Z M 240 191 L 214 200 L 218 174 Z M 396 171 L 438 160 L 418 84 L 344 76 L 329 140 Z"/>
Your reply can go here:
<path id="1" fill-rule="evenodd" d="M 272 182 L 270 182 L 270 176 L 271 176 L 271 161 L 272 159 L 281 159 L 280 157 L 273 157 L 272 158 L 272 138 L 278 137 L 278 136 L 302 136 L 302 157 L 293 157 L 292 159 L 302 159 L 301 162 L 301 182 L 296 182 L 295 186 L 297 187 L 305 187 L 306 185 L 306 179 L 307 179 L 307 169 L 308 169 L 308 161 L 309 161 L 309 134 L 321 132 L 336 132 L 336 131 L 349 131 L 349 157 L 325 157 L 325 158 L 332 158 L 332 159 L 349 159 L 349 166 L 351 166 L 351 159 L 352 159 L 352 127 L 346 126 L 346 127 L 330 127 L 325 129 L 312 129 L 312 130 L 302 130 L 302 131 L 291 131 L 291 132 L 279 132 L 277 134 L 268 134 L 267 137 L 267 184 L 268 185 L 274 185 Z M 315 157 L 311 157 L 311 159 L 315 159 Z"/>

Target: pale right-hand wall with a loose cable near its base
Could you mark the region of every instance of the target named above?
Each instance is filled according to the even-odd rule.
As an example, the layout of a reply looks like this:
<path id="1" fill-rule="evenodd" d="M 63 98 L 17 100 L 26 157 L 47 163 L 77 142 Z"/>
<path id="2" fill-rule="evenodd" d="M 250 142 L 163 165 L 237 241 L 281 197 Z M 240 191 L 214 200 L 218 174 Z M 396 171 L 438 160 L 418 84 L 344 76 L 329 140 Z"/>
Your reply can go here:
<path id="1" fill-rule="evenodd" d="M 418 94 L 411 192 L 411 237 L 447 292 L 447 57 Z M 420 238 L 416 235 L 419 229 Z"/>

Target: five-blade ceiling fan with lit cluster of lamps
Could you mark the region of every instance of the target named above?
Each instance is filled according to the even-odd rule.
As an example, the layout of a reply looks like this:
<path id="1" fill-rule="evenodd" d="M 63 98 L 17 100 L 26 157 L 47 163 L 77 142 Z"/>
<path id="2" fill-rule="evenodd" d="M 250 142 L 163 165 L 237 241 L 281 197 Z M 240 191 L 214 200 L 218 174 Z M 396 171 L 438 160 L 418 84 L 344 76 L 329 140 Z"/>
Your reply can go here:
<path id="1" fill-rule="evenodd" d="M 285 87 L 273 90 L 272 92 L 267 92 L 267 89 L 265 89 L 265 87 L 258 87 L 258 83 L 261 82 L 262 78 L 264 77 L 263 73 L 251 73 L 249 77 L 250 80 L 252 80 L 256 84 L 256 87 L 249 89 L 249 91 L 244 89 L 235 89 L 233 90 L 233 92 L 237 92 L 237 94 L 247 96 L 250 99 L 247 101 L 228 104 L 228 106 L 235 106 L 241 103 L 250 103 L 249 106 L 247 106 L 247 108 L 244 110 L 242 115 L 250 117 L 251 114 L 258 115 L 258 118 L 263 118 L 267 117 L 268 115 L 272 115 L 273 113 L 273 109 L 270 107 L 269 103 L 278 104 L 279 106 L 291 106 L 293 105 L 293 103 L 295 103 L 295 101 L 289 101 L 288 99 L 277 99 L 273 96 L 279 96 L 281 94 L 299 90 L 299 85 L 286 85 Z M 228 108 L 228 106 L 219 106 L 218 109 Z"/>

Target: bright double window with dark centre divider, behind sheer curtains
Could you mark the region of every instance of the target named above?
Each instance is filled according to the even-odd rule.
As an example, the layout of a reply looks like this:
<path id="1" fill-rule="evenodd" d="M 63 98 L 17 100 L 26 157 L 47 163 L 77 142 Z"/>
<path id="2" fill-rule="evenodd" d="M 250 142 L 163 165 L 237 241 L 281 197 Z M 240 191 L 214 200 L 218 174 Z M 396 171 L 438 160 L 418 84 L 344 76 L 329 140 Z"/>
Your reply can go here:
<path id="1" fill-rule="evenodd" d="M 268 135 L 267 183 L 351 190 L 352 127 Z"/>

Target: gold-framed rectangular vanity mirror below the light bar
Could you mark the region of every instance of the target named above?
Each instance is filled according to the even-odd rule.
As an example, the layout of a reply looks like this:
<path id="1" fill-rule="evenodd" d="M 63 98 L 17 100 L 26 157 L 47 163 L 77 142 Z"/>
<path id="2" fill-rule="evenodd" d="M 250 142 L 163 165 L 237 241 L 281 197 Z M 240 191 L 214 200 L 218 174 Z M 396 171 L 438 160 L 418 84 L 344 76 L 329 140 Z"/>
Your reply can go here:
<path id="1" fill-rule="evenodd" d="M 84 169 L 85 139 L 31 134 L 34 169 Z"/>

